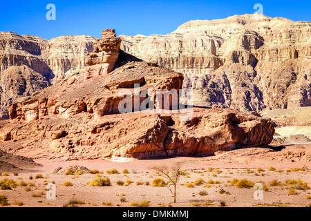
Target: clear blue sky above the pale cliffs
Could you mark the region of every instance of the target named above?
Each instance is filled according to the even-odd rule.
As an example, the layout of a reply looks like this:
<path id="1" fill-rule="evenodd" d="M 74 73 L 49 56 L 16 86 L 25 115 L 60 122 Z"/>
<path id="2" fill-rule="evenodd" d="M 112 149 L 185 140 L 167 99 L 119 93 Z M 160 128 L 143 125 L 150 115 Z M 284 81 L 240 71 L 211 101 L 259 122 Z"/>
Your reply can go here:
<path id="1" fill-rule="evenodd" d="M 46 5 L 56 6 L 56 21 L 46 20 Z M 117 35 L 165 35 L 196 19 L 223 19 L 252 14 L 255 3 L 263 14 L 293 21 L 311 21 L 311 1 L 0 1 L 0 31 L 51 39 L 61 35 L 101 37 L 106 28 Z"/>

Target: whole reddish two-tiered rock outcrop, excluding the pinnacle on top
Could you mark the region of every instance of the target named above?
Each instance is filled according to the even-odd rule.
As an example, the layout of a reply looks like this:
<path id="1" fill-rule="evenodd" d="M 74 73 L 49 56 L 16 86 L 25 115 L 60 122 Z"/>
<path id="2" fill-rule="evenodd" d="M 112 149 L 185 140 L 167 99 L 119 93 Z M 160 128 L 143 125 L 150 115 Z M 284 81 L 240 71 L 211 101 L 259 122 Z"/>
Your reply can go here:
<path id="1" fill-rule="evenodd" d="M 182 88 L 182 74 L 149 63 L 120 51 L 111 73 L 94 73 L 86 78 L 101 64 L 87 66 L 10 105 L 11 119 L 0 121 L 2 146 L 35 158 L 146 159 L 211 155 L 219 150 L 265 146 L 272 141 L 274 124 L 270 119 L 220 106 L 192 108 L 186 121 L 180 110 L 157 113 L 154 108 L 135 111 L 132 106 L 135 112 L 120 113 L 119 104 L 124 100 L 121 90 L 129 91 L 129 99 L 135 104 L 135 90 L 178 92 Z M 138 103 L 143 102 L 139 97 Z"/>

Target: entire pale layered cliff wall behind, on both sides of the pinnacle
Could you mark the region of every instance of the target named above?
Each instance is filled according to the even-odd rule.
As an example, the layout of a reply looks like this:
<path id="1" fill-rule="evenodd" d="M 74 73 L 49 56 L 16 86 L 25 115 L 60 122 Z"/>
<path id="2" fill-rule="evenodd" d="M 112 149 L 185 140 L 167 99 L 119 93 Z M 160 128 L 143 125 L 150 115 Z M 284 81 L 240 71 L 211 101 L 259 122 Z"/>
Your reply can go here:
<path id="1" fill-rule="evenodd" d="M 235 15 L 189 21 L 167 35 L 120 39 L 121 50 L 184 74 L 183 88 L 194 89 L 195 106 L 311 106 L 311 22 Z M 45 40 L 0 32 L 0 117 L 8 118 L 8 105 L 19 97 L 102 59 L 86 61 L 95 41 L 86 35 Z"/>

